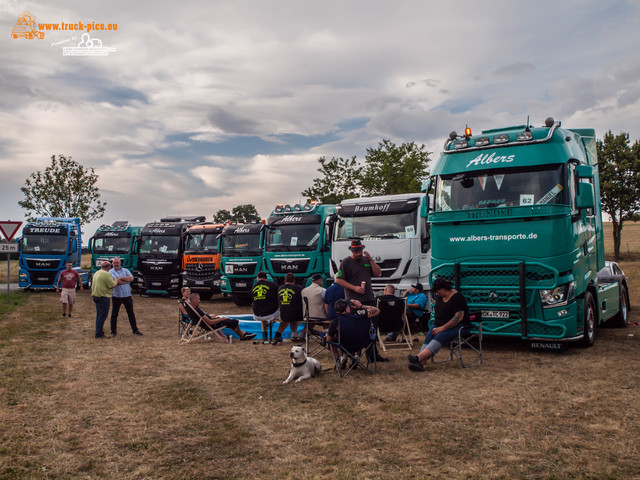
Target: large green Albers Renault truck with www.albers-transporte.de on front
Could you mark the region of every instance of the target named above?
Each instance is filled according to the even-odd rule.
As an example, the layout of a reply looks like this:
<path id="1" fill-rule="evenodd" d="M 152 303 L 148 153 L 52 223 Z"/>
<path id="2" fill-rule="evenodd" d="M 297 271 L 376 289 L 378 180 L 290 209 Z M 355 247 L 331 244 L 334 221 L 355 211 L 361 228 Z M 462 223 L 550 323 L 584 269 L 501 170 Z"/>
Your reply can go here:
<path id="1" fill-rule="evenodd" d="M 593 345 L 626 326 L 628 292 L 600 281 L 604 241 L 593 129 L 548 118 L 451 132 L 432 171 L 430 280 L 446 278 L 482 312 L 485 335 L 534 347 Z"/>

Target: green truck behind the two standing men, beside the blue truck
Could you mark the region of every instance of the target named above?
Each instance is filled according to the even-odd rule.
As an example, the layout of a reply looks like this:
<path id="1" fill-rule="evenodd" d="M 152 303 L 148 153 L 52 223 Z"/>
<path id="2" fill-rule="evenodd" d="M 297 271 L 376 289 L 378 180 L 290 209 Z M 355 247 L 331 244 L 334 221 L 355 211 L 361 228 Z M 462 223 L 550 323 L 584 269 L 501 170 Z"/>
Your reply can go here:
<path id="1" fill-rule="evenodd" d="M 142 227 L 129 225 L 126 220 L 113 222 L 112 225 L 100 225 L 89 239 L 91 252 L 91 278 L 100 270 L 104 260 L 114 257 L 122 260 L 122 267 L 133 275 L 133 287 L 138 285 L 138 249 Z"/>

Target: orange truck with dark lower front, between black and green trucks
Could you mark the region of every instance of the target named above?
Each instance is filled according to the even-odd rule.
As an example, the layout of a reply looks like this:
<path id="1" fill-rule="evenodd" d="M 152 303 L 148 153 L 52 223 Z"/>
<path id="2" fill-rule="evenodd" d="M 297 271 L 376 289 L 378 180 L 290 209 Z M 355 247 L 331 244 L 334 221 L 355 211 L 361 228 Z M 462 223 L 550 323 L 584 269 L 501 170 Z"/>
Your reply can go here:
<path id="1" fill-rule="evenodd" d="M 189 227 L 182 257 L 182 283 L 209 300 L 220 293 L 220 252 L 218 237 L 224 224 L 200 223 Z"/>

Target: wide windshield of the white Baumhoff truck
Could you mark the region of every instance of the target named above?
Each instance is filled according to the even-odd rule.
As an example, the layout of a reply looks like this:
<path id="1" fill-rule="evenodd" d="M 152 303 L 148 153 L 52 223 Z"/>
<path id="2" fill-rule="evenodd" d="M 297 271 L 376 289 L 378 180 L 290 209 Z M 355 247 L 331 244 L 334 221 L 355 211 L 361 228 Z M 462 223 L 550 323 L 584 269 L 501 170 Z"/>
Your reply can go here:
<path id="1" fill-rule="evenodd" d="M 390 215 L 341 216 L 335 239 L 412 238 L 416 235 L 417 210 Z"/>

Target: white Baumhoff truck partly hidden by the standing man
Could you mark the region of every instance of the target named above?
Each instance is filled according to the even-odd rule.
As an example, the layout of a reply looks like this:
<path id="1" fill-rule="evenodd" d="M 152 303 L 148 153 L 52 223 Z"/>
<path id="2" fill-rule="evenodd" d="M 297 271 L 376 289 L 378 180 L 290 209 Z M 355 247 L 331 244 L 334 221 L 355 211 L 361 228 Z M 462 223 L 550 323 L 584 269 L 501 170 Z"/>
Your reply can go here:
<path id="1" fill-rule="evenodd" d="M 430 270 L 427 195 L 403 193 L 343 200 L 336 207 L 331 275 L 351 255 L 352 240 L 365 245 L 382 270 L 371 279 L 375 292 L 393 284 L 400 291 L 420 282 L 428 290 Z"/>

